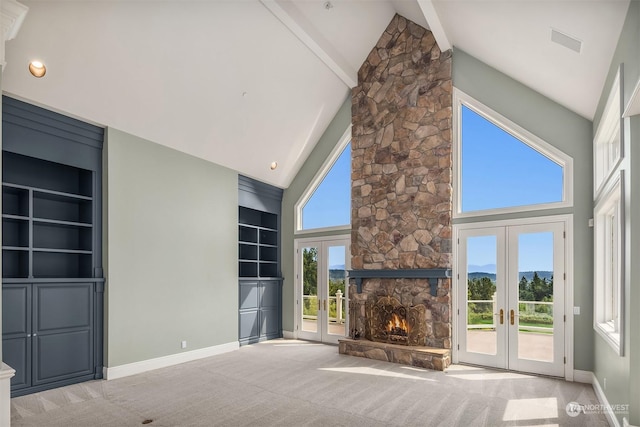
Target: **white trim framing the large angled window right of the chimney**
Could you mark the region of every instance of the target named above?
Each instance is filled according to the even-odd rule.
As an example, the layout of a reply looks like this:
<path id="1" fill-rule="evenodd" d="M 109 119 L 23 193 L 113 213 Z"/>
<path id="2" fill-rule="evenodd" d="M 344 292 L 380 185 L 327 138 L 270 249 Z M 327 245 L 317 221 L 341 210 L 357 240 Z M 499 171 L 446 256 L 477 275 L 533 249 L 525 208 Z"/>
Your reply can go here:
<path id="1" fill-rule="evenodd" d="M 562 201 L 462 212 L 461 118 L 463 105 L 562 167 Z M 573 206 L 573 158 L 571 158 L 571 156 L 568 156 L 553 145 L 535 136 L 521 126 L 518 126 L 503 115 L 497 113 L 496 111 L 492 110 L 491 108 L 482 104 L 480 101 L 474 99 L 473 97 L 467 95 L 457 88 L 453 89 L 453 106 L 453 185 L 455 194 L 455 197 L 453 198 L 454 218 L 472 218 L 515 212 L 530 212 L 544 209 L 566 208 Z"/>

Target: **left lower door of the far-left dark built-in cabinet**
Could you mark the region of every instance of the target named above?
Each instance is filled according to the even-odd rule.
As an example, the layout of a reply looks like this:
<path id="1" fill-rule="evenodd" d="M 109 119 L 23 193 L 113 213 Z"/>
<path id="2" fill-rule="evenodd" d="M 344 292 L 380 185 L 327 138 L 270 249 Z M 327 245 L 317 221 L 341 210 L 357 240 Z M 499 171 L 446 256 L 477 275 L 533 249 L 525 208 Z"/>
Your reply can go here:
<path id="1" fill-rule="evenodd" d="M 2 286 L 2 360 L 16 375 L 11 390 L 31 386 L 31 285 Z"/>

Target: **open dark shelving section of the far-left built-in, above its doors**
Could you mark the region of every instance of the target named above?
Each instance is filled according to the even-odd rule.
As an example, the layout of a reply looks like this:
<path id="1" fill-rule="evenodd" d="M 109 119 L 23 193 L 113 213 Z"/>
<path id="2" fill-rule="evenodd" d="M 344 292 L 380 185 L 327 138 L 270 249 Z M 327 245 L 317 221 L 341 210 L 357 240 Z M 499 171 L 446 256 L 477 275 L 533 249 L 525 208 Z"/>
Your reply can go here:
<path id="1" fill-rule="evenodd" d="M 92 173 L 3 155 L 2 277 L 91 278 Z"/>

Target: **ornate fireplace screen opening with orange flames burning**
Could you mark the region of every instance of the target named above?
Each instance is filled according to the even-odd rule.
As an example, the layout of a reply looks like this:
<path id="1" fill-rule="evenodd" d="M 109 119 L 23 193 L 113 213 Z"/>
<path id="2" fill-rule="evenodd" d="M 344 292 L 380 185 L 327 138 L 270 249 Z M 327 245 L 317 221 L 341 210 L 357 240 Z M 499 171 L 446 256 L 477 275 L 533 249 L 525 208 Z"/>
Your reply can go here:
<path id="1" fill-rule="evenodd" d="M 427 336 L 424 304 L 404 306 L 393 297 L 380 297 L 367 309 L 365 338 L 371 341 L 425 345 Z"/>

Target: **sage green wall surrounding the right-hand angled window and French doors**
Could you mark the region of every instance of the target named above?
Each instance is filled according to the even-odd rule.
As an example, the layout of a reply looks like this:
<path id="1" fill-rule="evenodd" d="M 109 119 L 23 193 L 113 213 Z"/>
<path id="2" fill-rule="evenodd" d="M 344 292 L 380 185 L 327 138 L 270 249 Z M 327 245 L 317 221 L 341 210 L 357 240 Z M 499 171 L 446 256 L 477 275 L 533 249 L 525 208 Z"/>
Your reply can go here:
<path id="1" fill-rule="evenodd" d="M 572 213 L 574 220 L 574 368 L 593 369 L 592 123 L 462 50 L 453 54 L 453 85 L 573 158 L 574 207 L 455 220 L 493 221 Z"/>

